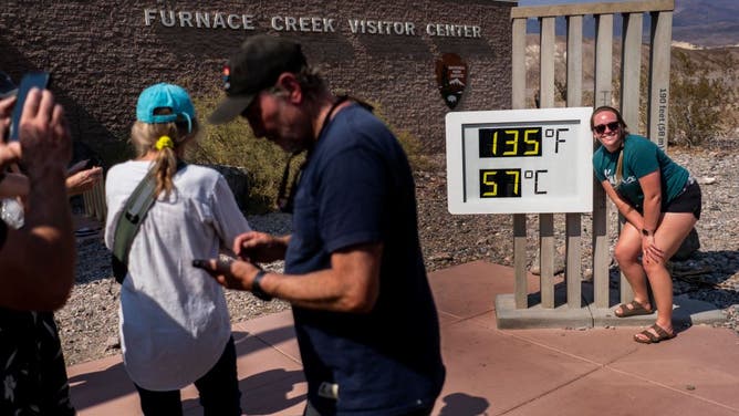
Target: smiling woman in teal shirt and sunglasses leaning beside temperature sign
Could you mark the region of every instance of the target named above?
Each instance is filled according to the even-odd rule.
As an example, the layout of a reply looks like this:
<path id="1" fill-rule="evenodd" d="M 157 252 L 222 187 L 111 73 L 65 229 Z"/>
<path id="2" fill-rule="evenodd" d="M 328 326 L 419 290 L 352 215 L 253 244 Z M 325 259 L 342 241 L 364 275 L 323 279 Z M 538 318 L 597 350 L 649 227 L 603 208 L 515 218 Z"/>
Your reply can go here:
<path id="1" fill-rule="evenodd" d="M 596 108 L 590 124 L 602 145 L 593 154 L 595 177 L 626 219 L 614 256 L 634 300 L 618 305 L 614 313 L 618 318 L 652 314 L 656 306 L 657 322 L 634 340 L 646 344 L 669 340 L 675 331 L 673 281 L 666 263 L 700 218 L 700 188 L 657 145 L 629 134 L 617 110 Z"/>

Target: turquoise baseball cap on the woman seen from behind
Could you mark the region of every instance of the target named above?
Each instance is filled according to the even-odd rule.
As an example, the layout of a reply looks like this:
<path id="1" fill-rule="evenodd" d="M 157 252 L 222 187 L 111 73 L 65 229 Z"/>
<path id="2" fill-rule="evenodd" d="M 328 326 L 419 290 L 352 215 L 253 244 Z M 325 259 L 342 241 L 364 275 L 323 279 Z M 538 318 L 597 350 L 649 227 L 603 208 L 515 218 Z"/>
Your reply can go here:
<path id="1" fill-rule="evenodd" d="M 169 108 L 171 114 L 156 114 Z M 136 104 L 136 119 L 142 123 L 162 124 L 187 121 L 187 133 L 192 133 L 195 107 L 187 91 L 179 85 L 159 83 L 142 91 Z"/>

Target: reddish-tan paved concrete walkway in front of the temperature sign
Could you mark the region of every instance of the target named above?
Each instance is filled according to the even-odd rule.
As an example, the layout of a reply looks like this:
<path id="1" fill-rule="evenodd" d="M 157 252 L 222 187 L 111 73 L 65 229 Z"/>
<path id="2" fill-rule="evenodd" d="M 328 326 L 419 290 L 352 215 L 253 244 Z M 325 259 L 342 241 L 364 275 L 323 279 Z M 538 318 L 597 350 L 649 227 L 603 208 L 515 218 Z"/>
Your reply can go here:
<path id="1" fill-rule="evenodd" d="M 512 269 L 472 262 L 429 279 L 447 366 L 434 415 L 739 414 L 739 336 L 730 330 L 693 325 L 655 345 L 632 341 L 639 329 L 629 326 L 499 330 L 495 299 L 513 292 Z M 306 385 L 290 312 L 233 332 L 244 414 L 301 415 Z M 119 357 L 72 366 L 69 376 L 81 416 L 140 414 Z M 186 415 L 202 414 L 194 387 L 183 401 Z"/>

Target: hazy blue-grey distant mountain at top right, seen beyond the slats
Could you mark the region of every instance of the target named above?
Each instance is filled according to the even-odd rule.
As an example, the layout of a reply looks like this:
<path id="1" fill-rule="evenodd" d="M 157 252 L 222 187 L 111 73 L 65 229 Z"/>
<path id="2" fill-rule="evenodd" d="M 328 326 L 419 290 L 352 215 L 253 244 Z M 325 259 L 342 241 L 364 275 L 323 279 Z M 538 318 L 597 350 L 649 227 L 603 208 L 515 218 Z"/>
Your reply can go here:
<path id="1" fill-rule="evenodd" d="M 615 35 L 621 35 L 622 19 L 614 19 Z M 539 33 L 535 20 L 528 22 L 529 33 Z M 564 19 L 556 19 L 558 34 L 566 33 Z M 595 35 L 595 19 L 592 15 L 583 22 L 583 35 Z M 644 19 L 644 35 L 649 35 L 649 19 Z M 673 40 L 698 46 L 716 48 L 739 45 L 739 0 L 675 0 L 673 14 Z"/>

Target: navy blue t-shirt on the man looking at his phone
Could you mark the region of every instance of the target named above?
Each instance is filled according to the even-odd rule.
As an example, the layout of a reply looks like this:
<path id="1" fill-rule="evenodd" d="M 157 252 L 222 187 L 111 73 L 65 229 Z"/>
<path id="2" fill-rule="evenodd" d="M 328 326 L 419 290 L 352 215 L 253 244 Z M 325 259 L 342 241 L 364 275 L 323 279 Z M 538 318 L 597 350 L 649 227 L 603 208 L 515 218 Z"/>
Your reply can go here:
<path id="1" fill-rule="evenodd" d="M 353 104 L 336 113 L 302 173 L 285 272 L 331 267 L 332 252 L 384 245 L 367 314 L 293 306 L 309 399 L 324 415 L 392 416 L 433 406 L 444 384 L 436 306 L 418 240 L 415 186 L 395 136 Z M 339 399 L 320 395 L 336 384 Z"/>

